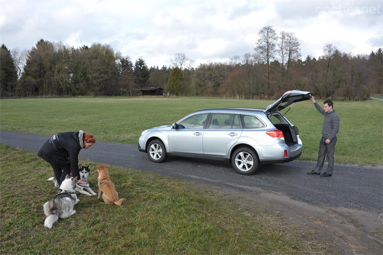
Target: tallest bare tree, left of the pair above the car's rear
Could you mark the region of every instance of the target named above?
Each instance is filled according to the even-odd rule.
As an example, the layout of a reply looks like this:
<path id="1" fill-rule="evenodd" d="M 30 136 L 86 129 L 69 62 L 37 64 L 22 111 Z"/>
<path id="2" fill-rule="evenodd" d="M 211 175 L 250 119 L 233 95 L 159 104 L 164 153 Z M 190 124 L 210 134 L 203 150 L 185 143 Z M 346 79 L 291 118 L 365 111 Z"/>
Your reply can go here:
<path id="1" fill-rule="evenodd" d="M 257 47 L 254 49 L 259 53 L 264 62 L 267 63 L 267 96 L 270 98 L 270 59 L 273 59 L 275 56 L 278 36 L 272 26 L 264 26 L 259 30 L 258 35 Z"/>

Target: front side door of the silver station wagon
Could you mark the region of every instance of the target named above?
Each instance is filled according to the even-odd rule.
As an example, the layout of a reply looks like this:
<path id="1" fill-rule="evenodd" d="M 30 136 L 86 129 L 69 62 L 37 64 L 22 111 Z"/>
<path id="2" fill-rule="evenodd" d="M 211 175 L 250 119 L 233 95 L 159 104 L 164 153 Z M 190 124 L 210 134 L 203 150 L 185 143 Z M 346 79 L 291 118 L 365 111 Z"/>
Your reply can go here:
<path id="1" fill-rule="evenodd" d="M 169 150 L 172 153 L 203 155 L 202 137 L 209 113 L 194 114 L 169 132 Z"/>

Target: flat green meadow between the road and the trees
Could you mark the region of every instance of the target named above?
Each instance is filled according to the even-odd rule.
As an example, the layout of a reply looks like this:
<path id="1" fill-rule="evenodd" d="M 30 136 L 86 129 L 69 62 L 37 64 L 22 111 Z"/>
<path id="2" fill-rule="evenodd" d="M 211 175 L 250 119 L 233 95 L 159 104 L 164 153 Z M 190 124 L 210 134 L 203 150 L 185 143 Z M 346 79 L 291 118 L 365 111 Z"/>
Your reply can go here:
<path id="1" fill-rule="evenodd" d="M 144 129 L 169 125 L 200 109 L 266 108 L 273 101 L 196 97 L 80 97 L 0 100 L 0 130 L 52 135 L 91 132 L 98 141 L 137 144 Z M 322 105 L 322 101 L 318 100 Z M 334 102 L 340 116 L 335 162 L 383 165 L 383 102 Z M 285 110 L 282 111 L 284 113 Z M 316 160 L 323 116 L 311 101 L 296 103 L 286 114 L 303 141 L 300 160 Z"/>

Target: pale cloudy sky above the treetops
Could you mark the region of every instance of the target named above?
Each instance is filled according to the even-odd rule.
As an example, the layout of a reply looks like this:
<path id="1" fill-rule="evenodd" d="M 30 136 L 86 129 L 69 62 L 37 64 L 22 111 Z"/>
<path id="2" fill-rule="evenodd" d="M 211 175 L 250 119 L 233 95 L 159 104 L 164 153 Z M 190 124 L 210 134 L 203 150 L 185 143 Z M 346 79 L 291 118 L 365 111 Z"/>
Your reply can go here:
<path id="1" fill-rule="evenodd" d="M 0 0 L 0 43 L 30 49 L 44 40 L 79 47 L 109 44 L 133 62 L 169 65 L 183 52 L 200 63 L 253 53 L 267 25 L 294 32 L 303 58 L 332 43 L 368 54 L 383 47 L 383 1 L 69 1 Z"/>

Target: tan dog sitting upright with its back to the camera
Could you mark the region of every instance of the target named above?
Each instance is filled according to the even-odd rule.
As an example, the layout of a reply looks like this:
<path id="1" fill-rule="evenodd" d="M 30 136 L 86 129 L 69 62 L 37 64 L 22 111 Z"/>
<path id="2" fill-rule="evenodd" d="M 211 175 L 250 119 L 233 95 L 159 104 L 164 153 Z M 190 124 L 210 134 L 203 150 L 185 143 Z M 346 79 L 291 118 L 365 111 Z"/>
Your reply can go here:
<path id="1" fill-rule="evenodd" d="M 108 175 L 109 165 L 97 166 L 98 172 L 98 198 L 102 194 L 102 199 L 104 199 L 105 204 L 117 204 L 121 205 L 125 201 L 124 198 L 118 200 L 118 194 L 115 189 L 115 185 L 110 180 Z"/>

